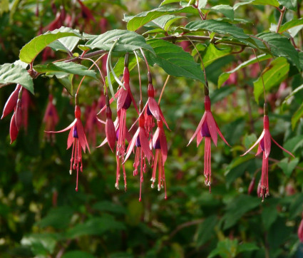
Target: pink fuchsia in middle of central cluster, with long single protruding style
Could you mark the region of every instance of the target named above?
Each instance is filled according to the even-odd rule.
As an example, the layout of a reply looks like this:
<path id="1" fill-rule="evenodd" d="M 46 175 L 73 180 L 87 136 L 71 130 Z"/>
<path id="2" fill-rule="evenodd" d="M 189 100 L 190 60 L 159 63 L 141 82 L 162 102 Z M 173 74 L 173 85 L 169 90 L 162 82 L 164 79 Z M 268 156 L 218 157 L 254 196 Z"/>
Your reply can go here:
<path id="1" fill-rule="evenodd" d="M 126 152 L 126 156 L 124 162 L 128 160 L 130 153 L 132 153 L 135 146 L 137 149 L 135 150 L 135 162 L 133 163 L 133 175 L 138 175 L 138 166 L 140 165 L 140 197 L 139 202 L 141 201 L 141 192 L 142 192 L 142 182 L 143 182 L 143 172 L 146 172 L 146 162 L 145 158 L 150 162 L 150 158 L 153 157 L 153 153 L 150 150 L 150 146 L 148 143 L 148 135 L 144 128 L 144 115 L 141 115 L 139 118 L 139 128 L 133 135 L 133 139 L 130 141 L 128 145 L 128 150 Z M 123 163 L 124 163 L 123 162 Z"/>

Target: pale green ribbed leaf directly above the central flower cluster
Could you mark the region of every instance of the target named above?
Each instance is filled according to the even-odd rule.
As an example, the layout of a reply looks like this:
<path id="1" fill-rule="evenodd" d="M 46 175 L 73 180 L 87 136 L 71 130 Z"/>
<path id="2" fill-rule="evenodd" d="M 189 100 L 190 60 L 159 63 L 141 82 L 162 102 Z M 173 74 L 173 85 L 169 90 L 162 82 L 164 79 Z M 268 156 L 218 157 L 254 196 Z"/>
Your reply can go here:
<path id="1" fill-rule="evenodd" d="M 145 38 L 134 31 L 126 31 L 120 29 L 114 29 L 113 31 L 107 31 L 99 35 L 98 37 L 86 42 L 86 46 L 90 48 L 99 48 L 105 51 L 109 51 L 113 46 L 113 42 L 118 38 L 118 43 L 113 48 L 114 52 L 133 52 L 139 48 L 143 48 L 154 53 L 146 42 Z"/>

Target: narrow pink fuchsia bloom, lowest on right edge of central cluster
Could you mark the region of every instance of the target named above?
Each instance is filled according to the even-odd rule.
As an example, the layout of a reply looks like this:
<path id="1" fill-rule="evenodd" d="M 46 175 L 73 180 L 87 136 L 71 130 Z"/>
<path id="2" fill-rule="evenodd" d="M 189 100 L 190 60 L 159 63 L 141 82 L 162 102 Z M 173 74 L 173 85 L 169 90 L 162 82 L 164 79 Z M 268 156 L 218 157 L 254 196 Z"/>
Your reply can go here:
<path id="1" fill-rule="evenodd" d="M 168 198 L 166 193 L 166 182 L 165 182 L 165 161 L 168 158 L 168 143 L 166 141 L 165 132 L 163 129 L 163 121 L 157 121 L 157 130 L 155 130 L 155 134 L 153 135 L 153 140 L 151 144 L 155 149 L 155 156 L 153 160 L 153 175 L 150 179 L 152 181 L 151 187 L 155 187 L 156 180 L 156 171 L 158 165 L 158 191 L 164 187 L 165 190 L 165 200 Z"/>

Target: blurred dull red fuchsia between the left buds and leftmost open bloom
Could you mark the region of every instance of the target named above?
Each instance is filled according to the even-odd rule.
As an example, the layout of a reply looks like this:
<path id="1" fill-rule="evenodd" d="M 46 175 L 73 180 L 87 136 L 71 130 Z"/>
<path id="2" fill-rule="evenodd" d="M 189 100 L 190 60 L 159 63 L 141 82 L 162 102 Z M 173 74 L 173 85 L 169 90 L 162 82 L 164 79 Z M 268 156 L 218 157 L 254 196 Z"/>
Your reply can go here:
<path id="1" fill-rule="evenodd" d="M 43 116 L 43 123 L 45 123 L 46 131 L 53 131 L 56 128 L 56 125 L 59 122 L 58 112 L 56 110 L 55 105 L 53 105 L 53 95 L 49 94 L 48 96 L 48 104 L 46 106 L 46 110 Z M 45 135 L 48 141 L 55 141 L 55 135 L 53 133 L 48 133 Z"/>

